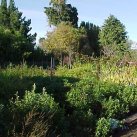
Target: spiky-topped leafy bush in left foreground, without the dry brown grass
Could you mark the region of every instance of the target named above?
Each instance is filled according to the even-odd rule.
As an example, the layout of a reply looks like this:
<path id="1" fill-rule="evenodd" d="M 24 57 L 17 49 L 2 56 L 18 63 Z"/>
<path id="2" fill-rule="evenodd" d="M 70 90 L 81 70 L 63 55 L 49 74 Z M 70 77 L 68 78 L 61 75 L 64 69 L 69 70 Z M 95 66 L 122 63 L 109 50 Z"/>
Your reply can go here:
<path id="1" fill-rule="evenodd" d="M 20 99 L 18 94 L 16 94 L 16 98 L 10 100 L 10 105 L 8 107 L 8 112 L 11 115 L 10 119 L 12 119 L 12 123 L 9 123 L 9 135 L 13 134 L 13 130 L 15 133 L 21 134 L 24 128 L 22 122 L 25 123 L 26 121 L 24 119 L 33 111 L 33 118 L 31 119 L 32 125 L 30 124 L 29 127 L 36 128 L 35 126 L 39 125 L 37 120 L 41 118 L 42 114 L 43 117 L 40 121 L 46 121 L 45 126 L 48 127 L 48 129 L 45 129 L 45 127 L 43 128 L 47 130 L 47 136 L 68 136 L 68 122 L 64 117 L 64 110 L 61 109 L 59 105 L 55 103 L 54 99 L 45 91 L 43 91 L 43 93 L 35 93 L 35 85 L 33 86 L 32 91 L 25 92 L 22 99 Z M 15 129 L 13 129 L 13 127 L 15 127 Z M 29 131 L 24 131 L 24 134 L 30 134 L 29 132 L 31 132 L 31 128 Z"/>

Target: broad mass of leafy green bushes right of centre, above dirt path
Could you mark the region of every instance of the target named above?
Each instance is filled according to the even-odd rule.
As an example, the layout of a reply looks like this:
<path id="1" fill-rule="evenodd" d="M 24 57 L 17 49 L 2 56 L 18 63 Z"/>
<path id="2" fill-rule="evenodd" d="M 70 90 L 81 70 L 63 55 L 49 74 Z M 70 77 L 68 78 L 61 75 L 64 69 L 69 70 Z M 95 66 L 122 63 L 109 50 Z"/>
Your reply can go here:
<path id="1" fill-rule="evenodd" d="M 137 91 L 135 85 L 127 86 L 112 82 L 97 81 L 95 78 L 80 80 L 67 93 L 67 100 L 74 110 L 72 117 L 73 120 L 75 119 L 75 126 L 79 127 L 81 132 L 86 126 L 91 131 L 94 131 L 95 123 L 98 123 L 98 118 L 100 119 L 101 117 L 107 119 L 124 118 L 131 109 L 136 108 L 136 97 Z M 88 115 L 89 110 L 92 115 Z M 83 121 L 85 124 L 82 125 L 80 122 L 76 124 L 76 121 Z M 109 131 L 107 128 L 104 130 Z M 80 133 L 78 130 L 75 132 Z M 97 135 L 105 136 L 105 133 L 97 132 Z M 93 132 L 92 135 L 94 135 Z"/>

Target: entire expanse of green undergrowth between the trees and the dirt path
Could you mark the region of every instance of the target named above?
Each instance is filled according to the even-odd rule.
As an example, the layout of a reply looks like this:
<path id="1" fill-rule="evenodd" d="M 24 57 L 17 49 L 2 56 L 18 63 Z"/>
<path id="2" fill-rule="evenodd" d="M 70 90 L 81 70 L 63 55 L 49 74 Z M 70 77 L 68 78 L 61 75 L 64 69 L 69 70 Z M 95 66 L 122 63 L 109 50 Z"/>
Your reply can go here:
<path id="1" fill-rule="evenodd" d="M 76 137 L 90 137 L 105 136 L 111 132 L 113 125 L 108 126 L 110 119 L 122 120 L 136 112 L 137 72 L 134 66 L 117 67 L 108 60 L 100 59 L 100 70 L 97 64 L 98 60 L 87 64 L 77 63 L 69 70 L 59 66 L 52 77 L 47 70 L 26 65 L 10 65 L 1 70 L 1 129 L 4 127 L 3 131 L 7 133 L 7 125 L 13 123 L 20 129 L 20 122 L 9 124 L 11 116 L 15 114 L 16 118 L 23 119 L 34 109 L 39 113 L 53 114 L 55 124 L 50 123 L 50 127 L 54 130 L 54 126 L 59 124 L 56 135 L 68 135 L 69 132 Z M 36 92 L 24 93 L 26 89 L 31 89 L 33 83 L 37 85 Z M 41 93 L 43 87 L 46 92 Z M 18 94 L 15 96 L 16 91 Z M 11 98 L 12 102 L 9 103 Z M 65 124 L 63 131 L 60 130 L 62 123 Z M 104 124 L 106 126 L 101 130 Z"/>

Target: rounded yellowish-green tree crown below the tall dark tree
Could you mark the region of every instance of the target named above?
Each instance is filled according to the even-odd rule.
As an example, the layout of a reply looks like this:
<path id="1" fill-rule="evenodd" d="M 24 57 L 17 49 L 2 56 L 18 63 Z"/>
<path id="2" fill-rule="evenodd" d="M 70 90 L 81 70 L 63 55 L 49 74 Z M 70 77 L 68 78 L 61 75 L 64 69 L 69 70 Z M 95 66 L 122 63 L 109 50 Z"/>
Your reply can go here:
<path id="1" fill-rule="evenodd" d="M 77 51 L 81 37 L 81 30 L 73 28 L 70 24 L 61 23 L 47 35 L 44 49 L 55 55 Z"/>

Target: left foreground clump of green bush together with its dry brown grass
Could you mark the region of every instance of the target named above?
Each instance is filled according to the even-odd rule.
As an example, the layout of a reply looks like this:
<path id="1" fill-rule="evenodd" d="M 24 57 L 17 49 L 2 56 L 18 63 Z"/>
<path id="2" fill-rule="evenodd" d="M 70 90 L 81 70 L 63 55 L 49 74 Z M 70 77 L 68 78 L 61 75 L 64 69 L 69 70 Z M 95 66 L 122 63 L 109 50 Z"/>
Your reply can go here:
<path id="1" fill-rule="evenodd" d="M 1 110 L 3 119 L 0 121 L 5 136 L 67 136 L 68 124 L 64 110 L 44 90 L 36 93 L 34 85 L 22 99 L 16 94 L 5 105 L 4 110 Z"/>

